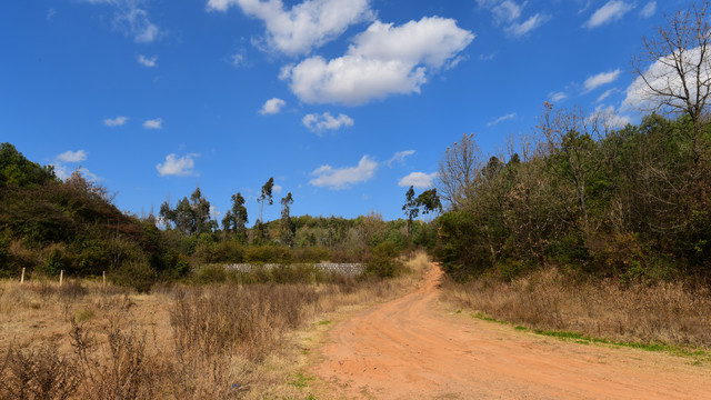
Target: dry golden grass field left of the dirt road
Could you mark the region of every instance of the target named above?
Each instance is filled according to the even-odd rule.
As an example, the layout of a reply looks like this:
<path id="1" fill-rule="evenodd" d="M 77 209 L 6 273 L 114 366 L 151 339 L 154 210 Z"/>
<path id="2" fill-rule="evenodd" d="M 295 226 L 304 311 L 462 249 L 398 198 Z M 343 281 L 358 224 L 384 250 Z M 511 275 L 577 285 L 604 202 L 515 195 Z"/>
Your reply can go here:
<path id="1" fill-rule="evenodd" d="M 391 280 L 172 286 L 137 294 L 94 282 L 0 282 L 0 398 L 304 398 L 297 332 L 346 307 L 411 290 Z"/>

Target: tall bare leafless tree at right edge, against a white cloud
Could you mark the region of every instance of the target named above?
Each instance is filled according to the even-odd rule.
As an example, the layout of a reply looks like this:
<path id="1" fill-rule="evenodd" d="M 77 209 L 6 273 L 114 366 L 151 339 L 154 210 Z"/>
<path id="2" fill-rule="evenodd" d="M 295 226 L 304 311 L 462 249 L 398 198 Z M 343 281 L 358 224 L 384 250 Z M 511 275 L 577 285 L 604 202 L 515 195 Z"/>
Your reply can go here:
<path id="1" fill-rule="evenodd" d="M 643 50 L 633 57 L 638 76 L 628 102 L 647 111 L 671 111 L 691 118 L 689 138 L 694 163 L 703 153 L 701 128 L 711 96 L 711 3 L 693 3 L 685 10 L 665 16 L 667 26 L 658 27 L 651 38 L 643 38 Z"/>

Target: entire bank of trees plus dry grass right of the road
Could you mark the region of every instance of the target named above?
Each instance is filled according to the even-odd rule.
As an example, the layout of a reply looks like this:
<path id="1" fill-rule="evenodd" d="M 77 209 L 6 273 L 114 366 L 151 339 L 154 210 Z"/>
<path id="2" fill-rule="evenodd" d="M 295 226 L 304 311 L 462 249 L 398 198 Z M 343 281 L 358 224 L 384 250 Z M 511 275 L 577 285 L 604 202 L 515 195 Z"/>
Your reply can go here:
<path id="1" fill-rule="evenodd" d="M 643 41 L 635 90 L 654 112 L 639 124 L 545 103 L 504 153 L 483 154 L 473 136 L 447 149 L 434 254 L 455 307 L 711 348 L 709 11 L 692 4 Z"/>

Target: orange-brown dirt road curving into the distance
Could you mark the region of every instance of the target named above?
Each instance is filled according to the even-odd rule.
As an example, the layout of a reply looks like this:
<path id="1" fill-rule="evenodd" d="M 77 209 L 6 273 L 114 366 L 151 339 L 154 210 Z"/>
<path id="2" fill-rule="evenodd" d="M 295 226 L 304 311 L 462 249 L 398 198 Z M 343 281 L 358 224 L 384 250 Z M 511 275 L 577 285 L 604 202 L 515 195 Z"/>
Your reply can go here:
<path id="1" fill-rule="evenodd" d="M 433 266 L 417 291 L 329 331 L 311 370 L 331 383 L 323 398 L 711 399 L 711 368 L 689 359 L 449 314 L 437 302 L 441 274 Z"/>

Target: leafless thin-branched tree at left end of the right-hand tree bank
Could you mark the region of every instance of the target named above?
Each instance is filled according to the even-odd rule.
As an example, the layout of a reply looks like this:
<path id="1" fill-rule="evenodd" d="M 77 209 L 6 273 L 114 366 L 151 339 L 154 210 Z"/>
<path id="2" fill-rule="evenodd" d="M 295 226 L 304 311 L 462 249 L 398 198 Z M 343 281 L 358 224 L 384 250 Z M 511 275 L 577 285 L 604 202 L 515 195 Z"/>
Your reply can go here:
<path id="1" fill-rule="evenodd" d="M 447 148 L 440 159 L 438 188 L 452 209 L 460 209 L 471 198 L 473 183 L 481 172 L 481 150 L 474 134 L 463 134 L 460 142 Z"/>

